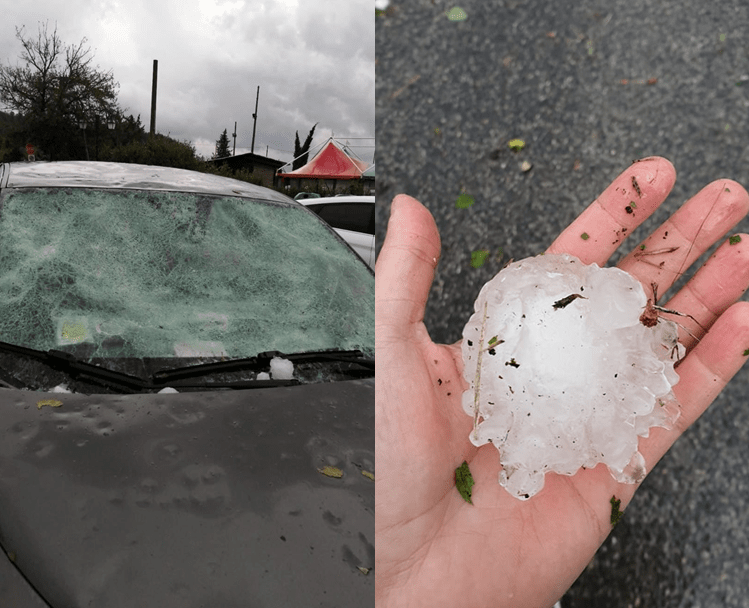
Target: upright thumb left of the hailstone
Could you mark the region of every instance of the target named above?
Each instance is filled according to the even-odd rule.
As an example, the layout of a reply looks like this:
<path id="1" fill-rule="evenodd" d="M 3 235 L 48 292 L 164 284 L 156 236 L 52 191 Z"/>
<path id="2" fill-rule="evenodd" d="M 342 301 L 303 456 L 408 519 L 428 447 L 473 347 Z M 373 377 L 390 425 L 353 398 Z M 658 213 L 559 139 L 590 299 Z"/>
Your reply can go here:
<path id="1" fill-rule="evenodd" d="M 375 266 L 378 333 L 403 337 L 423 321 L 439 255 L 440 237 L 432 214 L 416 199 L 396 196 Z"/>

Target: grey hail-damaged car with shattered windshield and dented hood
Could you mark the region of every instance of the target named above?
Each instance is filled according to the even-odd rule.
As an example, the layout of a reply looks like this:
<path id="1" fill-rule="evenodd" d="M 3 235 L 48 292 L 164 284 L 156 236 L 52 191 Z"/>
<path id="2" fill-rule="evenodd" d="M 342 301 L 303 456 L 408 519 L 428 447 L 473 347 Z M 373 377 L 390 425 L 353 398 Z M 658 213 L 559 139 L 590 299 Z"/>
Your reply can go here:
<path id="1" fill-rule="evenodd" d="M 374 605 L 374 274 L 241 181 L 0 165 L 0 606 Z"/>

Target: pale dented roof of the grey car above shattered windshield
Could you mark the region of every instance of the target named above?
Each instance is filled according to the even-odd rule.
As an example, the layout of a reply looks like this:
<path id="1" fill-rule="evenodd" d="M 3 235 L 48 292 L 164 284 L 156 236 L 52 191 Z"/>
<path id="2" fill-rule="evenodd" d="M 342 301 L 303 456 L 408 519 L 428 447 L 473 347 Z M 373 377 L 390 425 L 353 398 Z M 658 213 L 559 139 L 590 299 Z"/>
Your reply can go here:
<path id="1" fill-rule="evenodd" d="M 0 165 L 0 188 L 120 188 L 243 196 L 298 203 L 280 192 L 228 177 L 132 163 L 59 161 Z"/>

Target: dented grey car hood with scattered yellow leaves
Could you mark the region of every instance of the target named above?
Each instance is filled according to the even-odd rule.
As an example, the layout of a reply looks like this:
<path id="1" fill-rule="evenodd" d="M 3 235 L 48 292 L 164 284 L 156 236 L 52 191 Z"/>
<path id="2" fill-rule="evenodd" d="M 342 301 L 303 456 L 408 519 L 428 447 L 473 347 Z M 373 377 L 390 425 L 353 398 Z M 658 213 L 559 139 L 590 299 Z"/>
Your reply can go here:
<path id="1" fill-rule="evenodd" d="M 0 605 L 374 604 L 374 380 L 0 409 Z"/>

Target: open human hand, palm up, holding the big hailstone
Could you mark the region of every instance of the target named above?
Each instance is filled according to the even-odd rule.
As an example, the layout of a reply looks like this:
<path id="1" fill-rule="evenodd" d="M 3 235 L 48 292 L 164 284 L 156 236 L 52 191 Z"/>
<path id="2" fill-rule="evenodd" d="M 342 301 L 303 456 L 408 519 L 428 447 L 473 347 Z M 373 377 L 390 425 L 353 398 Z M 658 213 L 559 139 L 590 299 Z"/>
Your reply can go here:
<path id="1" fill-rule="evenodd" d="M 640 194 L 635 190 L 635 178 Z M 547 250 L 603 266 L 627 234 L 666 199 L 675 181 L 671 163 L 634 163 Z M 636 198 L 633 198 L 636 196 Z M 635 210 L 626 207 L 636 200 Z M 711 183 L 685 203 L 619 267 L 652 293 L 678 276 L 749 211 L 736 182 Z M 626 230 L 625 230 L 626 229 Z M 580 235 L 587 233 L 588 239 Z M 746 360 L 749 236 L 724 242 L 665 307 L 685 329 L 687 356 L 674 393 L 681 416 L 671 430 L 640 438 L 647 470 L 720 393 Z M 638 484 L 617 483 L 605 465 L 573 476 L 547 474 L 528 501 L 497 483 L 494 448 L 469 439 L 473 421 L 461 405 L 460 342 L 434 344 L 423 323 L 440 252 L 431 214 L 415 199 L 393 201 L 376 266 L 376 586 L 378 606 L 551 606 L 572 585 L 611 530 L 612 496 L 620 509 Z M 663 264 L 661 265 L 661 262 Z M 659 302 L 660 304 L 660 302 Z M 661 313 L 665 315 L 665 313 Z M 709 329 L 708 333 L 705 330 Z M 467 461 L 473 505 L 455 488 L 454 470 Z"/>

